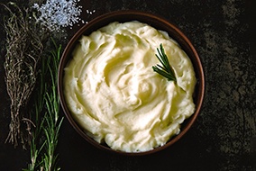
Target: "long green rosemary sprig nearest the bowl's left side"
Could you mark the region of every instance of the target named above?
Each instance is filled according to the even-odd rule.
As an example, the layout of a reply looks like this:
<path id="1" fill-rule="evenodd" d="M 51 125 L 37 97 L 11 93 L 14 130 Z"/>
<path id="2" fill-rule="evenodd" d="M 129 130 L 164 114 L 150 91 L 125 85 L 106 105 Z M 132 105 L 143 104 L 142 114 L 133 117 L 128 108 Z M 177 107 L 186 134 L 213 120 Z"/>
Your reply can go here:
<path id="1" fill-rule="evenodd" d="M 59 95 L 57 91 L 57 80 L 58 80 L 58 67 L 60 59 L 61 46 L 56 50 L 51 51 L 51 63 L 48 64 L 50 71 L 50 86 L 49 91 L 46 93 L 45 100 L 47 111 L 44 117 L 44 135 L 45 141 L 45 154 L 42 157 L 42 166 L 45 171 L 55 171 L 60 168 L 57 166 L 58 155 L 55 150 L 58 145 L 59 129 L 63 121 L 63 117 L 59 118 Z M 51 65 L 51 66 L 50 66 Z"/>

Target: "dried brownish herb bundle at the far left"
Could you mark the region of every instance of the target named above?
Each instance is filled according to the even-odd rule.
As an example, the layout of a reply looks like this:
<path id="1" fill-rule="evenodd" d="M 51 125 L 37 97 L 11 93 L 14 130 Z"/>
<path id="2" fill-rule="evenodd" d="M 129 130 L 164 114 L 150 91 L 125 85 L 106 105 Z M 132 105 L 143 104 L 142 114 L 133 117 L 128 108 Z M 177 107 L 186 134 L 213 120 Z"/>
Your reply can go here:
<path id="1" fill-rule="evenodd" d="M 41 31 L 39 23 L 32 22 L 29 11 L 22 11 L 17 5 L 5 18 L 6 32 L 5 83 L 11 99 L 10 131 L 6 142 L 16 147 L 19 140 L 25 145 L 31 140 L 32 121 L 26 105 L 29 103 L 36 83 L 37 65 L 43 51 L 43 40 L 47 32 Z"/>

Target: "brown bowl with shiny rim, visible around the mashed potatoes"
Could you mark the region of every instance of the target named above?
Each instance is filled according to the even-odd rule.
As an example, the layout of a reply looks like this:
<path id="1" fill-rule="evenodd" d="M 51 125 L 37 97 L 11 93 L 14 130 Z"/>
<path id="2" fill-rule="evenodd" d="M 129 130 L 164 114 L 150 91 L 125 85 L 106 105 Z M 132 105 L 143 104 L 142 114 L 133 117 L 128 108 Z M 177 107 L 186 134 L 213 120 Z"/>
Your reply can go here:
<path id="1" fill-rule="evenodd" d="M 69 62 L 69 59 L 72 58 L 71 53 L 75 48 L 75 46 L 77 45 L 79 38 L 82 35 L 89 35 L 91 32 L 98 30 L 99 28 L 107 25 L 108 23 L 112 23 L 112 22 L 124 23 L 124 22 L 130 22 L 130 21 L 139 21 L 141 23 L 147 23 L 158 30 L 167 31 L 169 33 L 169 36 L 174 40 L 177 40 L 181 49 L 183 49 L 187 53 L 187 56 L 190 58 L 190 60 L 193 63 L 193 67 L 195 69 L 196 76 L 197 76 L 197 85 L 194 92 L 194 103 L 196 104 L 196 112 L 190 118 L 188 118 L 186 121 L 182 123 L 180 133 L 177 136 L 169 139 L 167 144 L 160 148 L 154 148 L 150 151 L 138 152 L 138 153 L 126 153 L 122 151 L 116 151 L 114 149 L 107 147 L 104 144 L 98 144 L 94 139 L 91 139 L 90 137 L 88 137 L 87 134 L 78 126 L 78 123 L 74 121 L 74 119 L 72 118 L 63 94 L 64 68 Z M 169 147 L 170 145 L 175 143 L 178 139 L 180 139 L 191 127 L 191 125 L 194 123 L 194 121 L 197 118 L 197 115 L 200 111 L 200 108 L 203 102 L 203 97 L 205 92 L 205 79 L 204 79 L 203 67 L 201 65 L 200 58 L 197 55 L 196 49 L 193 47 L 192 43 L 187 39 L 184 33 L 182 33 L 178 29 L 177 26 L 175 26 L 173 23 L 169 23 L 169 21 L 161 18 L 160 16 L 129 10 L 129 11 L 116 11 L 109 14 L 101 15 L 96 19 L 92 20 L 91 22 L 87 23 L 86 25 L 84 25 L 73 36 L 73 38 L 69 40 L 69 43 L 66 49 L 64 49 L 62 58 L 60 59 L 60 63 L 59 63 L 58 89 L 59 89 L 60 103 L 63 111 L 65 112 L 73 128 L 77 130 L 78 133 L 84 139 L 87 139 L 88 142 L 95 145 L 97 148 L 103 148 L 111 152 L 125 154 L 125 155 L 145 155 L 145 154 L 151 154 L 163 148 Z"/>

